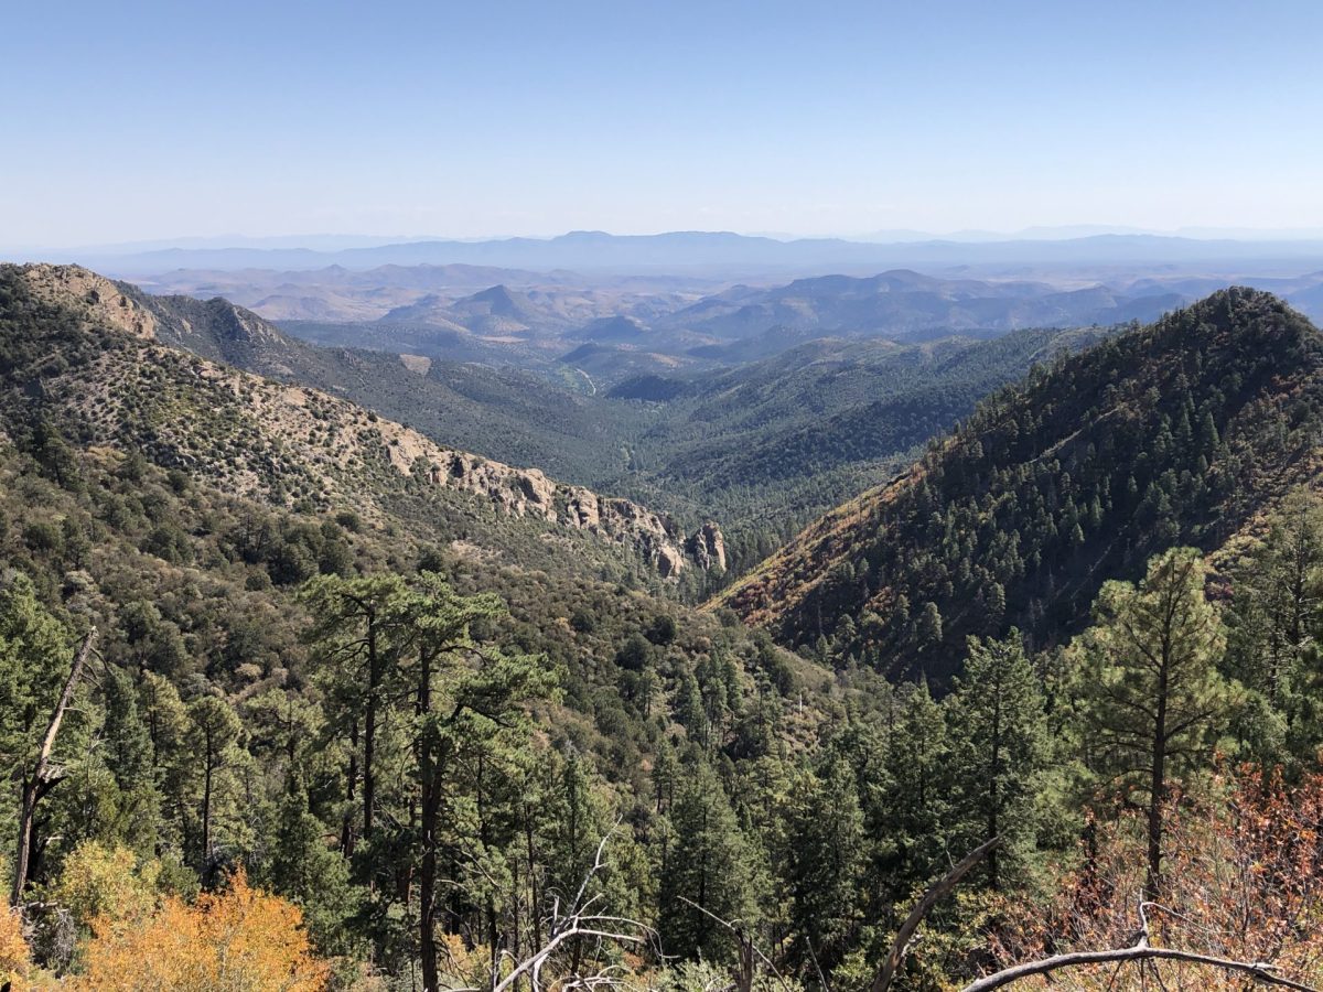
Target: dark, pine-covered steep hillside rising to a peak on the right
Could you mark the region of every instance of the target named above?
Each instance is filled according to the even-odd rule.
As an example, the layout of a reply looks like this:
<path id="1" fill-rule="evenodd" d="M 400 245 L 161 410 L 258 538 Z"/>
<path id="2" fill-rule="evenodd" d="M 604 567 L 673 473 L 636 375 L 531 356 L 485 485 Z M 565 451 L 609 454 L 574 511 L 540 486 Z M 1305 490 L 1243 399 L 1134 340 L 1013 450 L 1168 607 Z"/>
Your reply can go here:
<path id="1" fill-rule="evenodd" d="M 968 634 L 1050 643 L 1103 579 L 1217 549 L 1314 477 L 1320 429 L 1315 328 L 1221 291 L 995 394 L 722 602 L 786 643 L 946 676 Z"/>

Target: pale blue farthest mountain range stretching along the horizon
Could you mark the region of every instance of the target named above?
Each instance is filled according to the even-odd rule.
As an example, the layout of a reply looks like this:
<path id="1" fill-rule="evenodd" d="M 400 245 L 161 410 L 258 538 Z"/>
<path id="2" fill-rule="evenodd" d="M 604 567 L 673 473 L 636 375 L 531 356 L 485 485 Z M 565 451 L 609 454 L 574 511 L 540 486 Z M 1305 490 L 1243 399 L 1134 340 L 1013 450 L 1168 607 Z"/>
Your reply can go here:
<path id="1" fill-rule="evenodd" d="M 893 234 L 894 237 L 894 234 Z M 85 249 L 56 251 L 52 261 L 94 265 L 118 275 L 155 275 L 173 269 L 287 269 L 339 265 L 472 265 L 512 269 L 577 269 L 607 272 L 859 271 L 901 266 L 1132 266 L 1285 265 L 1323 267 L 1323 238 L 1181 238 L 1156 234 L 1093 234 L 1052 238 L 1036 231 L 1012 239 L 888 241 L 844 238 L 778 241 L 729 231 L 668 231 L 618 235 L 572 231 L 556 238 L 409 241 L 339 250 L 308 247 L 165 247 L 147 251 Z"/>

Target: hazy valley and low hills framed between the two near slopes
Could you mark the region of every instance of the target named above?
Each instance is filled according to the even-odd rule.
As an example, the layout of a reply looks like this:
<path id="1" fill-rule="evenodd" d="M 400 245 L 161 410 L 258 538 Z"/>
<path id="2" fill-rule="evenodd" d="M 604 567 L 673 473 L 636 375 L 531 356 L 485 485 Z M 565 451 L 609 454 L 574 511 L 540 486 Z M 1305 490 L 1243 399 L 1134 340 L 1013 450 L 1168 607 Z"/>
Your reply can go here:
<path id="1" fill-rule="evenodd" d="M 1262 282 L 1306 312 L 1323 303 L 1323 275 Z M 721 284 L 451 263 L 181 270 L 147 288 L 213 328 L 177 341 L 204 357 L 635 500 L 687 533 L 716 520 L 737 575 L 1036 362 L 1220 284 L 912 270 Z"/>

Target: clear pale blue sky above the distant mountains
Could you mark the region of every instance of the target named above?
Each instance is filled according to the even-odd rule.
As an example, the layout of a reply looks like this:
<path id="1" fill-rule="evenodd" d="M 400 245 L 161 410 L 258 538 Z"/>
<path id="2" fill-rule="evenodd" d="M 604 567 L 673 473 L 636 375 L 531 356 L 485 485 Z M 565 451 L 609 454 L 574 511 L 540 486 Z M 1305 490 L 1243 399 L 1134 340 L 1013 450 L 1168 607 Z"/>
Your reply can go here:
<path id="1" fill-rule="evenodd" d="M 1323 226 L 1323 3 L 5 3 L 0 242 Z"/>

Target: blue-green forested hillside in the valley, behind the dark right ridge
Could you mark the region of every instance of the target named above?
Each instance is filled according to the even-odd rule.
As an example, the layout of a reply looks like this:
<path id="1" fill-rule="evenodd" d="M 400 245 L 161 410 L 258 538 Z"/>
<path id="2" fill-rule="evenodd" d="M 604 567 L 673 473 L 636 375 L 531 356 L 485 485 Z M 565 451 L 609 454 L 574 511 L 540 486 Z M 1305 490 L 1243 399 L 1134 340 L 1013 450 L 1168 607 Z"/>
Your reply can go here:
<path id="1" fill-rule="evenodd" d="M 894 474 L 992 390 L 1102 336 L 1084 329 L 925 344 L 824 339 L 720 373 L 631 380 L 611 395 L 651 419 L 630 442 L 631 471 L 602 484 L 720 520 L 733 567 L 744 571 L 816 516 Z"/>

